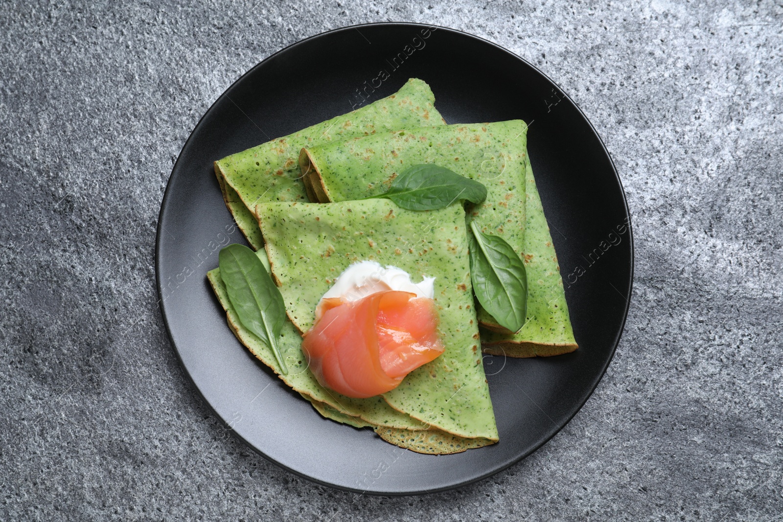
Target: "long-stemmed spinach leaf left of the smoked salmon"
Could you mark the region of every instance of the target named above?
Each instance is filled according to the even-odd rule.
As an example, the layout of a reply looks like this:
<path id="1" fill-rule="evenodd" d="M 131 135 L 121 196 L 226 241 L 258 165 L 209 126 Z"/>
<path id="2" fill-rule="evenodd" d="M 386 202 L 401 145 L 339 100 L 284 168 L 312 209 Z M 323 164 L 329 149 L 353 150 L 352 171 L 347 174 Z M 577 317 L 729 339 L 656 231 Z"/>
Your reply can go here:
<path id="1" fill-rule="evenodd" d="M 272 349 L 283 374 L 286 363 L 277 347 L 277 338 L 286 321 L 286 305 L 280 290 L 258 256 L 244 245 L 233 244 L 220 250 L 220 276 L 229 300 L 242 326 Z"/>

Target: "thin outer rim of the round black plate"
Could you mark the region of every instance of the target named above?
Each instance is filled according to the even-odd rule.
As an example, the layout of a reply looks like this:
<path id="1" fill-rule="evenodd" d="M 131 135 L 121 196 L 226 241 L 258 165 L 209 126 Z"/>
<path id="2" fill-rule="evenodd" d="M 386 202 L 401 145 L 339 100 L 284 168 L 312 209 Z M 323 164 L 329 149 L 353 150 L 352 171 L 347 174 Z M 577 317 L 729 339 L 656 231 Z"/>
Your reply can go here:
<path id="1" fill-rule="evenodd" d="M 549 434 L 547 434 L 546 437 L 543 437 L 543 440 L 531 448 L 528 452 L 524 452 L 521 455 L 516 456 L 513 459 L 510 459 L 506 463 L 502 463 L 500 466 L 496 466 L 493 468 L 493 470 L 490 470 L 486 473 L 483 473 L 482 475 L 478 477 L 471 477 L 470 479 L 467 479 L 465 481 L 460 481 L 455 484 L 450 484 L 447 486 L 442 486 L 438 488 L 431 488 L 431 489 L 421 489 L 417 491 L 366 491 L 366 490 L 360 490 L 357 488 L 350 488 L 346 486 L 342 486 L 339 484 L 332 484 L 327 481 L 321 481 L 315 477 L 311 477 L 306 473 L 303 473 L 298 470 L 294 470 L 293 468 L 290 468 L 289 466 L 284 465 L 283 463 L 280 463 L 276 461 L 275 459 L 272 459 L 269 455 L 266 455 L 265 452 L 263 452 L 260 448 L 257 448 L 256 446 L 252 445 L 249 441 L 247 441 L 244 437 L 242 437 L 238 432 L 233 430 L 232 427 L 230 427 L 228 421 L 224 419 L 218 411 L 215 409 L 215 407 L 211 404 L 211 402 L 204 396 L 202 393 L 200 387 L 198 387 L 195 380 L 193 380 L 193 376 L 189 372 L 185 362 L 182 360 L 182 355 L 179 351 L 179 346 L 176 344 L 174 337 L 172 337 L 171 334 L 171 326 L 169 326 L 168 322 L 168 315 L 166 314 L 166 309 L 164 307 L 164 288 L 161 281 L 161 239 L 164 236 L 164 230 L 161 225 L 164 219 L 164 213 L 167 208 L 168 200 L 171 198 L 171 177 L 174 175 L 175 171 L 177 171 L 177 167 L 179 166 L 180 160 L 182 160 L 183 153 L 189 149 L 190 146 L 192 146 L 191 142 L 193 140 L 193 135 L 195 134 L 195 131 L 200 127 L 202 122 L 211 114 L 213 110 L 215 110 L 215 107 L 218 106 L 218 104 L 222 103 L 224 99 L 229 97 L 229 92 L 233 90 L 233 88 L 236 87 L 236 85 L 240 85 L 242 81 L 244 81 L 245 77 L 250 76 L 253 74 L 257 69 L 263 67 L 265 63 L 269 62 L 272 58 L 279 55 L 282 52 L 289 51 L 290 49 L 294 49 L 295 47 L 299 45 L 305 45 L 306 42 L 309 42 L 311 40 L 314 40 L 316 38 L 322 38 L 327 36 L 328 34 L 332 33 L 338 33 L 341 31 L 350 31 L 350 30 L 359 30 L 361 27 L 410 27 L 410 28 L 428 28 L 428 29 L 435 29 L 436 31 L 447 31 L 450 33 L 458 34 L 462 37 L 467 37 L 469 39 L 473 39 L 475 41 L 481 42 L 482 44 L 488 44 L 491 45 L 495 50 L 503 52 L 510 56 L 513 59 L 518 59 L 528 67 L 531 67 L 532 70 L 535 70 L 538 74 L 540 74 L 543 78 L 545 78 L 547 81 L 550 82 L 550 84 L 554 85 L 557 88 L 557 91 L 559 94 L 565 96 L 566 99 L 568 99 L 569 102 L 571 102 L 572 106 L 576 109 L 576 111 L 579 113 L 579 116 L 581 116 L 584 121 L 586 121 L 587 125 L 590 128 L 590 131 L 592 131 L 593 135 L 597 139 L 597 142 L 601 146 L 601 150 L 606 155 L 607 159 L 609 160 L 609 166 L 612 168 L 612 174 L 615 176 L 615 181 L 617 182 L 617 185 L 620 189 L 620 195 L 622 196 L 622 206 L 623 211 L 626 214 L 626 221 L 628 226 L 628 239 L 630 242 L 630 278 L 627 288 L 627 295 L 622 295 L 622 297 L 626 301 L 625 309 L 622 311 L 622 322 L 620 324 L 620 328 L 618 330 L 618 333 L 615 337 L 615 340 L 612 342 L 612 348 L 610 350 L 609 356 L 606 359 L 606 362 L 604 362 L 603 367 L 601 368 L 601 371 L 599 373 L 596 373 L 596 376 L 594 377 L 594 380 L 590 383 L 590 392 L 586 394 L 583 401 L 581 401 L 576 409 L 572 412 L 571 415 L 568 416 L 567 419 L 565 419 L 565 422 L 562 423 L 561 426 L 555 427 L 554 430 L 551 430 Z M 359 32 L 361 34 L 361 32 Z M 518 56 L 516 53 L 511 52 L 509 49 L 504 48 L 501 45 L 496 44 L 493 41 L 489 41 L 486 38 L 482 38 L 480 36 L 477 36 L 475 34 L 468 33 L 466 31 L 461 31 L 459 29 L 454 29 L 452 27 L 443 27 L 435 24 L 428 24 L 428 23 L 417 23 L 417 22 L 370 22 L 370 23 L 357 23 L 353 25 L 343 26 L 343 27 L 336 27 L 334 29 L 330 29 L 329 31 L 323 31 L 317 34 L 312 34 L 311 36 L 307 38 L 302 38 L 301 40 L 294 41 L 294 43 L 287 45 L 283 47 L 282 49 L 277 50 L 276 52 L 273 52 L 269 56 L 267 56 L 265 59 L 262 59 L 262 61 L 256 63 L 253 67 L 251 67 L 249 70 L 247 70 L 244 74 L 240 75 L 235 81 L 231 83 L 223 92 L 221 95 L 218 96 L 217 99 L 215 99 L 214 102 L 211 103 L 211 106 L 204 111 L 204 114 L 201 115 L 199 118 L 199 121 L 197 121 L 197 124 L 193 126 L 193 129 L 191 129 L 188 138 L 186 139 L 185 143 L 182 145 L 182 149 L 180 149 L 179 154 L 177 156 L 177 160 L 175 161 L 175 164 L 173 167 L 171 167 L 171 174 L 169 174 L 168 181 L 166 182 L 166 189 L 164 191 L 163 199 L 161 200 L 161 210 L 158 212 L 157 216 L 157 225 L 156 225 L 156 232 L 155 232 L 155 286 L 157 288 L 157 295 L 158 295 L 158 308 L 161 310 L 161 316 L 163 318 L 164 326 L 166 328 L 166 334 L 168 336 L 168 340 L 171 343 L 171 347 L 174 348 L 175 355 L 177 356 L 177 359 L 179 360 L 179 365 L 184 370 L 184 373 L 186 374 L 188 380 L 190 381 L 193 388 L 197 391 L 199 397 L 201 398 L 201 401 L 204 403 L 204 405 L 207 405 L 207 408 L 211 411 L 212 415 L 215 417 L 215 419 L 218 419 L 220 423 L 222 423 L 224 428 L 227 428 L 233 435 L 233 437 L 236 437 L 242 441 L 244 445 L 247 445 L 248 448 L 251 448 L 254 452 L 258 453 L 258 455 L 261 455 L 265 460 L 267 460 L 270 463 L 275 464 L 276 466 L 279 466 L 283 470 L 287 470 L 290 473 L 294 473 L 294 475 L 298 477 L 305 478 L 308 481 L 315 482 L 316 484 L 320 484 L 322 486 L 326 486 L 327 488 L 333 488 L 338 489 L 341 491 L 349 491 L 352 493 L 357 493 L 359 495 L 373 495 L 373 496 L 384 496 L 384 497 L 399 497 L 399 496 L 413 496 L 413 495 L 429 495 L 433 493 L 438 493 L 442 491 L 451 491 L 456 488 L 462 488 L 464 486 L 467 486 L 469 484 L 474 484 L 478 481 L 483 481 L 488 477 L 492 477 L 493 475 L 500 473 L 503 470 L 507 470 L 509 467 L 514 466 L 514 464 L 517 464 L 521 462 L 521 460 L 526 459 L 529 457 L 529 455 L 532 455 L 532 453 L 538 451 L 540 448 L 543 447 L 543 445 L 546 445 L 547 442 L 549 442 L 555 435 L 560 433 L 560 431 L 568 425 L 572 421 L 572 419 L 576 416 L 576 414 L 583 409 L 586 402 L 593 396 L 595 393 L 598 384 L 601 383 L 601 380 L 604 378 L 604 374 L 606 373 L 609 365 L 612 363 L 612 361 L 615 358 L 615 352 L 617 351 L 617 347 L 619 346 L 620 340 L 622 338 L 622 334 L 625 332 L 626 322 L 628 319 L 628 312 L 630 311 L 630 303 L 631 298 L 633 297 L 633 276 L 634 276 L 634 269 L 635 269 L 635 250 L 633 247 L 633 223 L 631 220 L 631 214 L 630 209 L 628 207 L 628 198 L 626 196 L 626 190 L 622 185 L 622 180 L 620 179 L 619 173 L 617 171 L 617 167 L 615 166 L 615 161 L 612 159 L 612 154 L 609 153 L 608 149 L 606 148 L 606 144 L 604 143 L 604 140 L 601 139 L 601 135 L 598 134 L 596 128 L 594 127 L 593 123 L 590 121 L 588 117 L 586 117 L 583 110 L 579 107 L 578 104 L 574 102 L 574 100 L 560 87 L 560 85 L 557 84 L 556 81 L 552 80 L 546 73 L 544 73 L 542 70 L 539 70 L 538 67 L 530 63 L 525 58 Z"/>

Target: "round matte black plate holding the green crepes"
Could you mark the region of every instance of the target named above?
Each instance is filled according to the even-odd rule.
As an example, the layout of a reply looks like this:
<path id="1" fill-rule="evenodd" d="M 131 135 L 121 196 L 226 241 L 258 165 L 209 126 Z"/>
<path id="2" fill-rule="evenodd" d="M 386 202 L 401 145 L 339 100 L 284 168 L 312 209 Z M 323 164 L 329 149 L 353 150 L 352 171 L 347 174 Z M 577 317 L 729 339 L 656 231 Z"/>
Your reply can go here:
<path id="1" fill-rule="evenodd" d="M 287 470 L 382 495 L 477 481 L 556 434 L 612 359 L 633 276 L 622 186 L 583 113 L 511 52 L 459 31 L 426 31 L 413 23 L 345 27 L 259 63 L 193 130 L 171 171 L 157 229 L 164 320 L 182 365 L 215 413 Z M 381 70 L 389 75 L 382 82 L 375 80 Z M 205 276 L 218 265 L 220 247 L 244 243 L 223 204 L 213 160 L 390 95 L 410 77 L 431 85 L 449 123 L 522 118 L 530 124 L 529 154 L 579 343 L 575 353 L 552 358 L 486 357 L 500 442 L 457 455 L 405 451 L 370 430 L 323 419 L 234 338 Z M 373 84 L 374 92 L 363 91 Z M 363 102 L 359 92 L 369 99 Z"/>

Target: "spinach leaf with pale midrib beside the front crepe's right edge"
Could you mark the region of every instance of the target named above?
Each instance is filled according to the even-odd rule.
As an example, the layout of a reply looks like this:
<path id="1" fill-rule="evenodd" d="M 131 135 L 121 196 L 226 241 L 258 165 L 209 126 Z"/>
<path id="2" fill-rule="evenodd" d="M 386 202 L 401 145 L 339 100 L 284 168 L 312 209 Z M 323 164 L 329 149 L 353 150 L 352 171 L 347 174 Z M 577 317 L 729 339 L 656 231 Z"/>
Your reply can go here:
<path id="1" fill-rule="evenodd" d="M 475 221 L 471 221 L 471 230 L 471 281 L 476 298 L 500 326 L 516 332 L 527 320 L 525 261 L 502 237 L 481 232 Z"/>

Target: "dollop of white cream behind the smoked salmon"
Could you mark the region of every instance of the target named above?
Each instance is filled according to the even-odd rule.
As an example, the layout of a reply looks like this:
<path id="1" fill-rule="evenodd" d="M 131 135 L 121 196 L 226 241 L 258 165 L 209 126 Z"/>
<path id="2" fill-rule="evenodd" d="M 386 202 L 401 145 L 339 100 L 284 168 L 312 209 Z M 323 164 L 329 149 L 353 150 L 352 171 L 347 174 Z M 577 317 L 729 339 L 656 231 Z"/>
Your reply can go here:
<path id="1" fill-rule="evenodd" d="M 334 280 L 334 285 L 323 294 L 328 297 L 342 297 L 345 301 L 359 301 L 371 293 L 384 290 L 399 290 L 415 293 L 416 297 L 435 297 L 435 278 L 424 277 L 421 283 L 412 283 L 410 274 L 402 268 L 388 265 L 386 268 L 376 261 L 359 261 L 345 268 Z M 320 304 L 316 317 L 320 317 Z"/>

